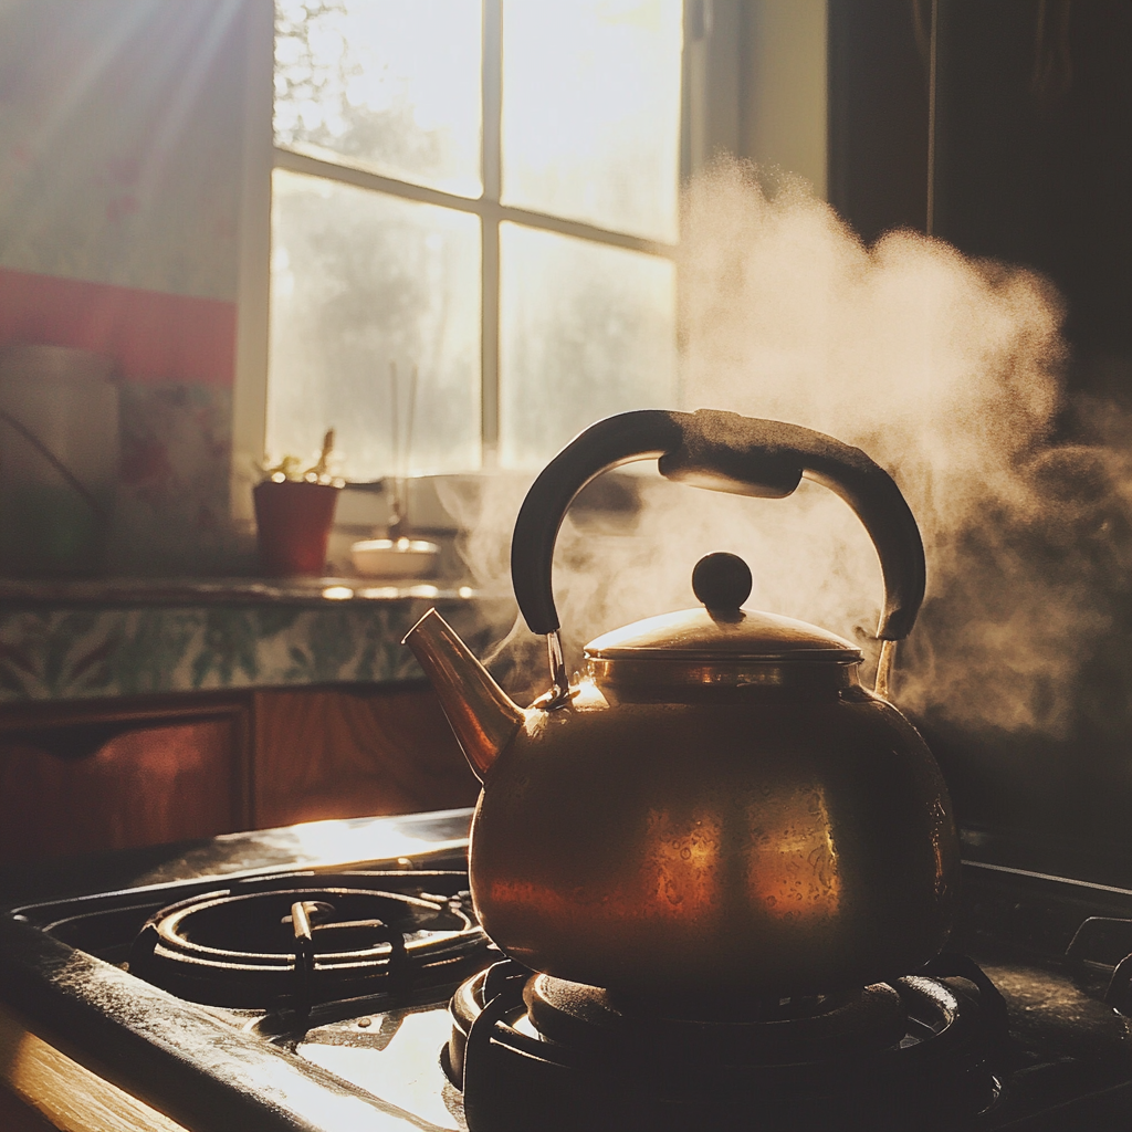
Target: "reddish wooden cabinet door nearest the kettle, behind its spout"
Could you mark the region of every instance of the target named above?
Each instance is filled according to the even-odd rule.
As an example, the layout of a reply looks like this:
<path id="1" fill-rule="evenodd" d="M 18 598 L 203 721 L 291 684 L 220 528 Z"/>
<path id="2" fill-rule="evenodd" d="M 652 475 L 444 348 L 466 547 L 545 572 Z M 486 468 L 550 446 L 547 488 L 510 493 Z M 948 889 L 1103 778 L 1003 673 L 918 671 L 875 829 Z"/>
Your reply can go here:
<path id="1" fill-rule="evenodd" d="M 257 826 L 470 806 L 480 784 L 431 688 L 255 694 Z"/>

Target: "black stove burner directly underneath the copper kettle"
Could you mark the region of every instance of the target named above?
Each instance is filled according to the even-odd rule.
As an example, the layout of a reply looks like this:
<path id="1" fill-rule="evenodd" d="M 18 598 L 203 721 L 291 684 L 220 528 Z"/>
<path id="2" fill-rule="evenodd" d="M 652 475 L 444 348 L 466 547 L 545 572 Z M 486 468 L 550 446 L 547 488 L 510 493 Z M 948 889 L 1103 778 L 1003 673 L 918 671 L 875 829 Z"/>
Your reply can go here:
<path id="1" fill-rule="evenodd" d="M 441 1061 L 480 1130 L 951 1126 L 993 1104 L 981 993 L 909 977 L 711 1021 L 497 963 L 461 985 Z"/>

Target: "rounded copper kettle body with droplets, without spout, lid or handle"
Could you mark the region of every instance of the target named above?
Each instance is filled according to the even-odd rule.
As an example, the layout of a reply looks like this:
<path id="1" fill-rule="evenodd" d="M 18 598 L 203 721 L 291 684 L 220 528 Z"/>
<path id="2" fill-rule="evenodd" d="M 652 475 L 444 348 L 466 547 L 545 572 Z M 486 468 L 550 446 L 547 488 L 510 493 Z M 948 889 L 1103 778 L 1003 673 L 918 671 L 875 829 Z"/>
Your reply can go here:
<path id="1" fill-rule="evenodd" d="M 636 994 L 816 994 L 915 971 L 959 860 L 915 729 L 851 684 L 609 704 L 592 685 L 484 777 L 471 884 L 512 958 Z"/>

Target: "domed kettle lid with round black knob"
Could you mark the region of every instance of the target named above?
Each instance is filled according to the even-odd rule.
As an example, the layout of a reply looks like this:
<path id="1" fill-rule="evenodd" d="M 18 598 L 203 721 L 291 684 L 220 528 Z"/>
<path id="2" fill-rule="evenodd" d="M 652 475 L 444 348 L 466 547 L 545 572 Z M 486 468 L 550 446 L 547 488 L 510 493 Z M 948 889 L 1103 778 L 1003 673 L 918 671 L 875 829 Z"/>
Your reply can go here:
<path id="1" fill-rule="evenodd" d="M 755 610 L 744 610 L 751 593 L 751 571 L 736 555 L 702 558 L 692 574 L 692 589 L 703 602 L 634 621 L 595 637 L 585 646 L 590 661 L 655 660 L 729 662 L 832 662 L 852 664 L 860 650 L 826 629 Z"/>

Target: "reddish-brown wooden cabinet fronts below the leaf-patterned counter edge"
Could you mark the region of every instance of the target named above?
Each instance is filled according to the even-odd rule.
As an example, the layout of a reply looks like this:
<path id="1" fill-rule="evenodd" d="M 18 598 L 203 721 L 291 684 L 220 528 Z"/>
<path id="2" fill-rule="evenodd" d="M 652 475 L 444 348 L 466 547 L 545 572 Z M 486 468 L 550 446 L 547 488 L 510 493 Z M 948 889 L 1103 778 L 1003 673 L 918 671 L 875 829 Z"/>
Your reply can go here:
<path id="1" fill-rule="evenodd" d="M 420 685 L 0 709 L 0 863 L 471 805 Z"/>

